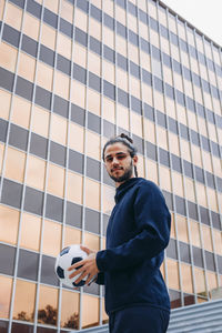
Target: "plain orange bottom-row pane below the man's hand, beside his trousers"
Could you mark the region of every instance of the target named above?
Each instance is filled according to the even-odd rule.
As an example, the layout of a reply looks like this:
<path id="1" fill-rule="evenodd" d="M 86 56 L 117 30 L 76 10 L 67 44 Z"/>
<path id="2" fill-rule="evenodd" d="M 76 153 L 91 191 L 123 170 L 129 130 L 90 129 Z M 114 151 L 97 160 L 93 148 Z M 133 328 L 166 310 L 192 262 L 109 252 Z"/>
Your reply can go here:
<path id="1" fill-rule="evenodd" d="M 82 329 L 99 325 L 99 299 L 82 295 Z"/>

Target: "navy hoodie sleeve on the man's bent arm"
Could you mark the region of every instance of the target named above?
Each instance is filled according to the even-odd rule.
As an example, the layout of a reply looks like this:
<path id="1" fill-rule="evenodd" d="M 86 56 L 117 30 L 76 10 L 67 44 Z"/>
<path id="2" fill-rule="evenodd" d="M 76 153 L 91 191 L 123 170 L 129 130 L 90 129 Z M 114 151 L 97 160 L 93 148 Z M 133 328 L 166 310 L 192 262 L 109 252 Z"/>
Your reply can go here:
<path id="1" fill-rule="evenodd" d="M 130 241 L 99 251 L 100 272 L 124 270 L 152 259 L 163 251 L 170 240 L 171 216 L 165 200 L 154 183 L 140 185 L 134 201 L 138 234 Z"/>

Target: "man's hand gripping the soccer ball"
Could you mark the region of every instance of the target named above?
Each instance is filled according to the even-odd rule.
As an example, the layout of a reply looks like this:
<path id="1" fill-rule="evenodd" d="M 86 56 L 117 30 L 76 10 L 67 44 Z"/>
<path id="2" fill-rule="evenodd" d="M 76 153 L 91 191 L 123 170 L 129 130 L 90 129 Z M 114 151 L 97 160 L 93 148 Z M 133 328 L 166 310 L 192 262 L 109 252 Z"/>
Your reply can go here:
<path id="1" fill-rule="evenodd" d="M 84 279 L 85 276 L 88 276 L 87 281 L 85 281 L 85 285 L 89 285 L 90 282 L 92 282 L 92 280 L 94 280 L 94 278 L 97 276 L 97 274 L 99 273 L 98 266 L 97 266 L 97 252 L 92 251 L 85 246 L 80 246 L 81 250 L 83 250 L 84 252 L 87 252 L 88 258 L 85 258 L 84 260 L 81 260 L 79 262 L 77 262 L 75 264 L 71 265 L 68 271 L 72 271 L 75 269 L 75 271 L 73 273 L 71 273 L 69 275 L 70 279 L 74 278 L 75 275 L 79 275 L 80 273 L 82 273 L 77 281 L 74 281 L 75 283 L 79 283 L 82 279 Z M 80 269 L 78 269 L 79 266 L 81 266 Z"/>

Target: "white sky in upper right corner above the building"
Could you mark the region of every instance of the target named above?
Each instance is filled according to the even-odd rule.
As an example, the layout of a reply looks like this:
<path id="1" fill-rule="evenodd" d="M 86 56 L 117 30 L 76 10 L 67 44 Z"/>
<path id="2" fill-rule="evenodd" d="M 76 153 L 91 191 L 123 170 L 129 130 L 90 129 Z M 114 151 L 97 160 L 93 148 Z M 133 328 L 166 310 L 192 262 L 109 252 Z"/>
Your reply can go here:
<path id="1" fill-rule="evenodd" d="M 162 2 L 222 47 L 222 0 L 162 0 Z"/>

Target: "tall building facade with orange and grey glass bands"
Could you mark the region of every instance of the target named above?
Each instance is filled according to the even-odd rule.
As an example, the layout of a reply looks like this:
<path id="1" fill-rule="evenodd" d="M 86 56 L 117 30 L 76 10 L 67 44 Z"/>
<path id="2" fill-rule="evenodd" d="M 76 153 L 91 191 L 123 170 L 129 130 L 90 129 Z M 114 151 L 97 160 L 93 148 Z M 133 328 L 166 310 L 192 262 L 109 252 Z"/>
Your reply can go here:
<path id="1" fill-rule="evenodd" d="M 154 0 L 0 1 L 0 331 L 105 323 L 103 289 L 53 274 L 71 243 L 104 249 L 121 132 L 172 214 L 172 307 L 222 286 L 222 50 Z"/>

